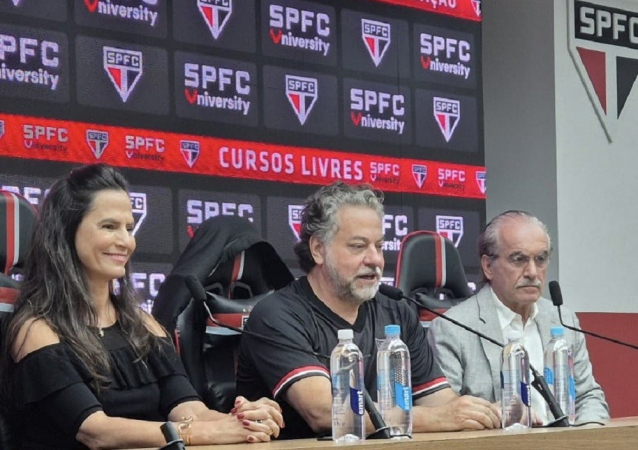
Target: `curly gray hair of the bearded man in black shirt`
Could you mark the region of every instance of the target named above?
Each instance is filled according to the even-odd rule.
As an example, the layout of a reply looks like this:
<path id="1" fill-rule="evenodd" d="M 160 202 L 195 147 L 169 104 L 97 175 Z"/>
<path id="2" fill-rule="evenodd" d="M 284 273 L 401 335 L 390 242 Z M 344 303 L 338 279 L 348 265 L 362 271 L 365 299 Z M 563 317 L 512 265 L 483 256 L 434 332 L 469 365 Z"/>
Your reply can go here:
<path id="1" fill-rule="evenodd" d="M 304 272 L 310 272 L 316 264 L 310 252 L 310 238 L 316 236 L 322 243 L 330 242 L 337 231 L 337 213 L 342 206 L 370 208 L 383 218 L 383 193 L 368 184 L 349 186 L 337 181 L 308 197 L 301 213 L 300 240 L 295 245 Z"/>

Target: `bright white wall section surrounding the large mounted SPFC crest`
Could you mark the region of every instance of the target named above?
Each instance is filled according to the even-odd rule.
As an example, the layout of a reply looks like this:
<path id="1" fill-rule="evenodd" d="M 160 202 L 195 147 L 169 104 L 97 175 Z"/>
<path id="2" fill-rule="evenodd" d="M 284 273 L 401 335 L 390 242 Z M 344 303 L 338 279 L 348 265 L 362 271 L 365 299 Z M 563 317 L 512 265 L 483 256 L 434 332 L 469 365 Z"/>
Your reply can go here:
<path id="1" fill-rule="evenodd" d="M 567 24 L 567 2 L 557 1 L 556 199 L 563 297 L 579 311 L 638 312 L 638 85 L 609 143 L 568 52 Z"/>

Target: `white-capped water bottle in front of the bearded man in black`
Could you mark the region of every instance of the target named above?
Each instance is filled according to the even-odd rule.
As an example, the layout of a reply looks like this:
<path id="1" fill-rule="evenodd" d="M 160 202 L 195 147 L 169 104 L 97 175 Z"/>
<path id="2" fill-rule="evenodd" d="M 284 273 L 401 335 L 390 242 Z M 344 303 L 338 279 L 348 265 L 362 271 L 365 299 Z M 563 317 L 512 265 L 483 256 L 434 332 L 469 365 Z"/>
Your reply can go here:
<path id="1" fill-rule="evenodd" d="M 363 355 L 352 342 L 352 330 L 339 330 L 339 344 L 330 356 L 332 379 L 332 440 L 365 439 Z"/>

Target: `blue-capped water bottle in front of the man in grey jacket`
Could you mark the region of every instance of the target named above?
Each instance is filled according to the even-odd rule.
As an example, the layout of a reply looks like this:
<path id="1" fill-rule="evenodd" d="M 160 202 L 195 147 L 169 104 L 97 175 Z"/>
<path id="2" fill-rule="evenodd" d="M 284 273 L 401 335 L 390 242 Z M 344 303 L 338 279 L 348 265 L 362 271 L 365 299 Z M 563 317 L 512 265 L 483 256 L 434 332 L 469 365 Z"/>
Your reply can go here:
<path id="1" fill-rule="evenodd" d="M 563 337 L 563 327 L 552 327 L 550 333 L 552 339 L 545 349 L 545 381 L 560 409 L 573 425 L 576 421 L 576 389 L 572 347 Z M 548 415 L 551 415 L 549 410 Z"/>

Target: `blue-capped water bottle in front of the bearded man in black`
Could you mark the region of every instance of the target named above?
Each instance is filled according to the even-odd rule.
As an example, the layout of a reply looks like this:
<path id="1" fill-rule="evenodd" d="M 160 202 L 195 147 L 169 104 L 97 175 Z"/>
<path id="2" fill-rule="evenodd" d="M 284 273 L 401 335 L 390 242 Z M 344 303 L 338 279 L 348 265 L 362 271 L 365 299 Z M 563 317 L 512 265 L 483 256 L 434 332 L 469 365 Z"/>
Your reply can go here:
<path id="1" fill-rule="evenodd" d="M 377 353 L 379 412 L 392 436 L 412 434 L 412 380 L 410 351 L 400 338 L 398 325 L 386 325 L 385 340 Z"/>

